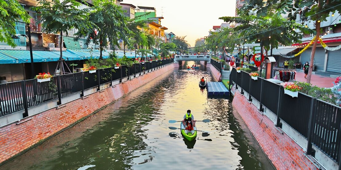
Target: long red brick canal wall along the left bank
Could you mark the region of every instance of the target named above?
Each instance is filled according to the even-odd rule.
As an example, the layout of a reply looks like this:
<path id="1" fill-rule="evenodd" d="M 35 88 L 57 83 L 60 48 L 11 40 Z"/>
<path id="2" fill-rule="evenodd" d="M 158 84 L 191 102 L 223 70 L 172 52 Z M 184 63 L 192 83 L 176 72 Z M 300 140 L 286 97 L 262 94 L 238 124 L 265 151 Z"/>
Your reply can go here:
<path id="1" fill-rule="evenodd" d="M 61 132 L 68 126 L 120 99 L 160 75 L 174 64 L 143 74 L 129 81 L 94 92 L 86 97 L 51 108 L 0 128 L 0 163 Z"/>

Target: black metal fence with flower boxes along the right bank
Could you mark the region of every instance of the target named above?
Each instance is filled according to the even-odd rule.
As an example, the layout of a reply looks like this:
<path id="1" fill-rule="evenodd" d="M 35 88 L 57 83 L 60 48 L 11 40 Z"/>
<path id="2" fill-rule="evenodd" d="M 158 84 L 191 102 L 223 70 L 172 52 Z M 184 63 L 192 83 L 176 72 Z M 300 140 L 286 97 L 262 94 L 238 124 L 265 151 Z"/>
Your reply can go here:
<path id="1" fill-rule="evenodd" d="M 230 82 L 249 90 L 249 95 L 258 100 L 277 115 L 276 125 L 286 122 L 308 140 L 307 153 L 313 154 L 312 145 L 340 165 L 341 152 L 341 107 L 298 92 L 298 97 L 284 94 L 283 86 L 261 77 L 252 80 L 251 76 L 232 69 Z M 249 83 L 249 84 L 248 84 Z M 249 97 L 249 100 L 251 97 Z"/>

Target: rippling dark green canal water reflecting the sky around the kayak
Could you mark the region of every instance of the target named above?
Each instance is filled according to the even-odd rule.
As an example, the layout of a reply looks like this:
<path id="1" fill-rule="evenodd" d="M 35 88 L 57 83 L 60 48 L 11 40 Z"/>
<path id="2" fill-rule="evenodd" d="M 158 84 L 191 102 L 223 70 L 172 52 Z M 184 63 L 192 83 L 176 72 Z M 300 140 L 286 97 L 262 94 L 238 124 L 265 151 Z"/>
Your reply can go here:
<path id="1" fill-rule="evenodd" d="M 186 62 L 84 121 L 15 157 L 0 169 L 266 169 L 231 113 L 228 99 L 210 99 L 200 78 L 210 70 L 186 70 Z M 197 122 L 196 140 L 181 136 L 187 109 Z"/>

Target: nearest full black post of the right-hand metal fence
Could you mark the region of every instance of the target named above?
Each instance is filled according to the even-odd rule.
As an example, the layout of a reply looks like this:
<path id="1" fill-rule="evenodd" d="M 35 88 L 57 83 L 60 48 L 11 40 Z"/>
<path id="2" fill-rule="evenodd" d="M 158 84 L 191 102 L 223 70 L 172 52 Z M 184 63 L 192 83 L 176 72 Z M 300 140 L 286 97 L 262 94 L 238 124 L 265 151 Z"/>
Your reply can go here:
<path id="1" fill-rule="evenodd" d="M 311 138 L 313 134 L 313 126 L 314 126 L 314 117 L 315 117 L 315 109 L 316 109 L 316 99 L 312 98 L 310 104 L 310 115 L 309 115 L 309 123 L 308 123 L 308 146 L 307 146 L 307 155 L 313 154 Z M 341 166 L 339 166 L 340 169 Z"/>

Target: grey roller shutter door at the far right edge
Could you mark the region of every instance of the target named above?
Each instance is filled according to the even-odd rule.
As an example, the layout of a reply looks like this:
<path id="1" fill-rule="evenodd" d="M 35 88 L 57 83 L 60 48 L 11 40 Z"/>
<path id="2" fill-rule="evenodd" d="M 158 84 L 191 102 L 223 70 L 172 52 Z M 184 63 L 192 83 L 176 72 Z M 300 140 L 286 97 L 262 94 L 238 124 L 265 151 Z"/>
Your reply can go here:
<path id="1" fill-rule="evenodd" d="M 328 51 L 326 71 L 341 73 L 341 49 Z"/>

